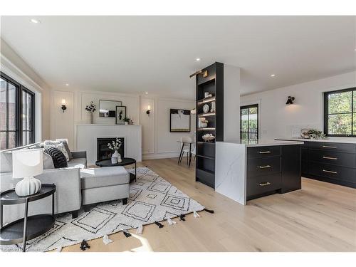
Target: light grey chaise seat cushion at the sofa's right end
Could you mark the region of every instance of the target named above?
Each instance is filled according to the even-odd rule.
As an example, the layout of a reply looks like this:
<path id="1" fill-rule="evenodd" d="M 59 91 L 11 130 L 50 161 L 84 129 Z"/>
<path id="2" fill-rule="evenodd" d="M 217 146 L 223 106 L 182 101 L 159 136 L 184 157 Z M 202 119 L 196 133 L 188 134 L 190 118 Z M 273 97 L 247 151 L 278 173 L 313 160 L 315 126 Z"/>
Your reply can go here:
<path id="1" fill-rule="evenodd" d="M 81 189 L 109 187 L 129 182 L 130 174 L 124 167 L 80 169 Z"/>

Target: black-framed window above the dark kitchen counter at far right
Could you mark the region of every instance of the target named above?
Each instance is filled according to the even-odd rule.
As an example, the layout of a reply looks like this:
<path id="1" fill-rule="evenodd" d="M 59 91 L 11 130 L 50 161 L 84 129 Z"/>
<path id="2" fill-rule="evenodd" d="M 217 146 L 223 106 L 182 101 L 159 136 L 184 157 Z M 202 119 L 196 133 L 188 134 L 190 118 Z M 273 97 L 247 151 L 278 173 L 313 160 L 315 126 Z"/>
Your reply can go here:
<path id="1" fill-rule="evenodd" d="M 356 136 L 356 88 L 324 93 L 324 132 L 327 136 Z"/>

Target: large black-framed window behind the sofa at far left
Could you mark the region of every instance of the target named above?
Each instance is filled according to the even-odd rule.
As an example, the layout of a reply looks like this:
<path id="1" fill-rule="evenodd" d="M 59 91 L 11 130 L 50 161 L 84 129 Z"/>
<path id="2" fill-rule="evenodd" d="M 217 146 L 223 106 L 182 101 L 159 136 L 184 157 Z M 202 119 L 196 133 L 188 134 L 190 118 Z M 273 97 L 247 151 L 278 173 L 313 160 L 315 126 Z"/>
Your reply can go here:
<path id="1" fill-rule="evenodd" d="M 34 93 L 1 73 L 0 150 L 34 142 L 34 110 Z"/>

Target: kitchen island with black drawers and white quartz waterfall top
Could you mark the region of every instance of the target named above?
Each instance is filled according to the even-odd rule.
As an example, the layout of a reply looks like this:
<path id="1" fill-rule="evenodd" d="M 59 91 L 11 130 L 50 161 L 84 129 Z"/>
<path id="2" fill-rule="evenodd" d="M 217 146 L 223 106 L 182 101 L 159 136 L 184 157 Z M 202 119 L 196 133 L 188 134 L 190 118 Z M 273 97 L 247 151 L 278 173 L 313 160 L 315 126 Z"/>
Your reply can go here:
<path id="1" fill-rule="evenodd" d="M 215 190 L 246 201 L 301 188 L 303 142 L 258 140 L 216 142 Z"/>

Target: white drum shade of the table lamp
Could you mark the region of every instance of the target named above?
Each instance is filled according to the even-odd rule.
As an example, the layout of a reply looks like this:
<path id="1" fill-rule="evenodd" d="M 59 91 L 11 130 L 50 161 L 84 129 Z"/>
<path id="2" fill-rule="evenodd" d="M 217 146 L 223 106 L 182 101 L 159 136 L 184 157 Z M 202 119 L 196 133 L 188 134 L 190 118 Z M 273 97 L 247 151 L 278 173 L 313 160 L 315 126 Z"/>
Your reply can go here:
<path id="1" fill-rule="evenodd" d="M 32 177 L 43 172 L 43 151 L 15 150 L 12 152 L 12 177 Z"/>

